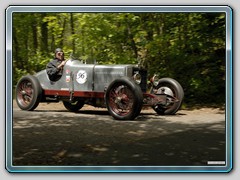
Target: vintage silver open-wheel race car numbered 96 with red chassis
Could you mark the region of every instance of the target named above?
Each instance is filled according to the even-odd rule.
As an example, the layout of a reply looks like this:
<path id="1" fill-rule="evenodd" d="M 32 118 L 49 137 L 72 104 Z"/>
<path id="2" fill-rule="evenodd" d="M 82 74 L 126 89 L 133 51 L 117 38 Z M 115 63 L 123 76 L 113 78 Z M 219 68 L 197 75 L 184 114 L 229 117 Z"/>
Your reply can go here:
<path id="1" fill-rule="evenodd" d="M 27 111 L 40 102 L 62 101 L 72 112 L 89 104 L 107 108 L 118 120 L 135 119 L 143 106 L 160 115 L 175 114 L 183 101 L 182 86 L 174 79 L 153 76 L 148 88 L 147 77 L 147 71 L 137 65 L 86 64 L 70 59 L 57 81 L 50 81 L 46 70 L 22 77 L 16 86 L 16 102 Z"/>

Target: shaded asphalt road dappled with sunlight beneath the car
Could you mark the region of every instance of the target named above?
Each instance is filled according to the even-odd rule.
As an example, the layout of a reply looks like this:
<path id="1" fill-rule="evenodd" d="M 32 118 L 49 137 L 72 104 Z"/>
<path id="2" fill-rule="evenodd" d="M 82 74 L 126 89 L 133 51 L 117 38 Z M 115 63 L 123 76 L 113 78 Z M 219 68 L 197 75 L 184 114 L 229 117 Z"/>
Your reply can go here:
<path id="1" fill-rule="evenodd" d="M 13 108 L 14 166 L 205 166 L 225 160 L 225 145 L 225 112 L 218 109 L 172 116 L 143 110 L 134 121 L 117 121 L 106 109 Z"/>

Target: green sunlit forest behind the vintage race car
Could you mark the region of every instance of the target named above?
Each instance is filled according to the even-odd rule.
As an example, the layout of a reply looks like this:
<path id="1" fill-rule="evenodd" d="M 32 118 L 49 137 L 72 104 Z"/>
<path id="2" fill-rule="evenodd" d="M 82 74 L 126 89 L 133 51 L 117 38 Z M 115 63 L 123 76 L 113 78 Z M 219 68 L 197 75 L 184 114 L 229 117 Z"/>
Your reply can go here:
<path id="1" fill-rule="evenodd" d="M 65 58 L 140 64 L 149 77 L 174 78 L 184 107 L 225 104 L 224 13 L 13 13 L 12 27 L 13 86 L 60 47 Z"/>

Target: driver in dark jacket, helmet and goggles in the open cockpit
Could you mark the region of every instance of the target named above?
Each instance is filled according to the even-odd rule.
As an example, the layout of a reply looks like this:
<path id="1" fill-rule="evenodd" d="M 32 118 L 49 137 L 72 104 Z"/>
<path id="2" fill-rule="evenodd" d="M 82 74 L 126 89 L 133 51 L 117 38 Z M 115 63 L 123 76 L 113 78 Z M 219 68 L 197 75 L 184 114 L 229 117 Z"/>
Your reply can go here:
<path id="1" fill-rule="evenodd" d="M 57 81 L 61 78 L 65 64 L 64 52 L 61 48 L 57 48 L 55 50 L 55 58 L 46 67 L 48 77 L 51 81 Z"/>

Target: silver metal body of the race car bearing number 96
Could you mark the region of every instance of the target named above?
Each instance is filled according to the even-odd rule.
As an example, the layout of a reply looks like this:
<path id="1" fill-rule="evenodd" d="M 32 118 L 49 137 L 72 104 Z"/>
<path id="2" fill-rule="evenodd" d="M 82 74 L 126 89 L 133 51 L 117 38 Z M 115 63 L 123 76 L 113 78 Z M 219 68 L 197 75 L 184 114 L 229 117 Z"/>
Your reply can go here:
<path id="1" fill-rule="evenodd" d="M 40 71 L 35 76 L 43 90 L 104 92 L 115 79 L 132 77 L 134 69 L 137 73 L 136 65 L 97 65 L 68 60 L 58 81 L 50 81 L 46 70 Z"/>

